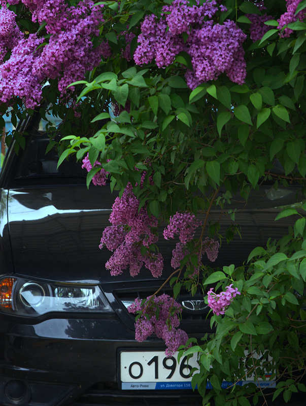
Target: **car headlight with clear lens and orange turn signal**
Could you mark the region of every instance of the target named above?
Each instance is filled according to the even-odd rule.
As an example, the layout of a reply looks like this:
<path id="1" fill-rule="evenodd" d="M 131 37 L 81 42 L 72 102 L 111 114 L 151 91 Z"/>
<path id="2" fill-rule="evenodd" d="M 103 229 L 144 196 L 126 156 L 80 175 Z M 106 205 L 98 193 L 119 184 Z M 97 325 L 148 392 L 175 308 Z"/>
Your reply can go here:
<path id="1" fill-rule="evenodd" d="M 112 312 L 99 286 L 0 278 L 0 311 L 21 316 L 50 312 Z"/>

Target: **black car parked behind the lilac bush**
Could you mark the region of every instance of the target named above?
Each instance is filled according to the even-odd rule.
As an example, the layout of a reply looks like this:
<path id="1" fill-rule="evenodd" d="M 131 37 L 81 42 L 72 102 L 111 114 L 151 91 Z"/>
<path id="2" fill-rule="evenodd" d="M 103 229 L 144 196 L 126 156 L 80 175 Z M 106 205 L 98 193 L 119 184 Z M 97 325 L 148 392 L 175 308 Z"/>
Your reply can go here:
<path id="1" fill-rule="evenodd" d="M 184 358 L 180 365 L 166 359 L 155 337 L 135 341 L 127 311 L 172 272 L 173 245 L 160 245 L 161 278 L 145 269 L 134 278 L 111 277 L 110 252 L 98 248 L 115 198 L 110 188 L 87 189 L 86 171 L 72 159 L 57 169 L 56 152 L 45 155 L 48 138 L 37 118 L 21 123 L 25 129 L 24 151 L 17 155 L 12 143 L 0 177 L 0 404 L 202 404 Z M 295 187 L 264 186 L 248 206 L 235 202 L 243 247 L 239 236 L 223 244 L 216 266 L 242 264 L 252 248 L 281 237 L 289 219 L 274 218 L 295 194 Z M 222 220 L 221 234 L 229 224 Z M 203 298 L 186 293 L 179 301 L 188 335 L 209 333 Z"/>

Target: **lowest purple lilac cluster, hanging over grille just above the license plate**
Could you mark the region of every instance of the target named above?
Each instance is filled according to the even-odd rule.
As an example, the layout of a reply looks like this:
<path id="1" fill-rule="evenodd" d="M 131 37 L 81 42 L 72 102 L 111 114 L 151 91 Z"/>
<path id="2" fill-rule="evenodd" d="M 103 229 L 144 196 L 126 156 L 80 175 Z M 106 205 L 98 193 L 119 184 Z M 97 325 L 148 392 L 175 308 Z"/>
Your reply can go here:
<path id="1" fill-rule="evenodd" d="M 142 342 L 152 334 L 156 334 L 166 344 L 167 357 L 171 357 L 180 345 L 186 344 L 188 336 L 184 330 L 178 328 L 182 307 L 167 294 L 149 296 L 143 304 L 142 300 L 137 298 L 128 307 L 128 311 L 133 314 L 141 312 L 140 318 L 135 322 L 137 341 Z"/>

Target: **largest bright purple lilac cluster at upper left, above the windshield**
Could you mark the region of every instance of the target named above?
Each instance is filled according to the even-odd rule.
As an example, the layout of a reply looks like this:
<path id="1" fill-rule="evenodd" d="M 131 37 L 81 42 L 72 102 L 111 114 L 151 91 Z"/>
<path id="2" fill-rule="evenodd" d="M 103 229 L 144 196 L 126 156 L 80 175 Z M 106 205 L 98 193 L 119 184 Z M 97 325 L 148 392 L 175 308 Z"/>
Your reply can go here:
<path id="1" fill-rule="evenodd" d="M 9 3 L 18 2 L 10 0 Z M 58 79 L 63 97 L 69 84 L 83 79 L 87 70 L 99 64 L 105 47 L 94 49 L 91 38 L 99 34 L 104 6 L 95 6 L 91 0 L 82 0 L 72 7 L 62 0 L 22 0 L 22 3 L 29 8 L 33 21 L 46 23 L 45 29 L 51 36 L 48 44 L 37 49 L 45 41 L 43 37 L 30 34 L 25 39 L 14 31 L 13 40 L 18 38 L 18 41 L 12 42 L 11 57 L 0 65 L 0 100 L 9 102 L 20 97 L 26 107 L 34 108 L 41 101 L 45 80 Z M 0 48 L 3 53 L 2 45 Z"/>

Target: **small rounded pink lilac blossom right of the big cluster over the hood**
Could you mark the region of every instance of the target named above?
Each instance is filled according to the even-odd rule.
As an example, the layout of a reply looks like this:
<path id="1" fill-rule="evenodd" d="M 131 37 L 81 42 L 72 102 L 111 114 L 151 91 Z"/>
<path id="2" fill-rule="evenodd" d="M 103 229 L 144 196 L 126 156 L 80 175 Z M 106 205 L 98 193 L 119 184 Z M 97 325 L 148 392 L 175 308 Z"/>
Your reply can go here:
<path id="1" fill-rule="evenodd" d="M 194 214 L 177 211 L 169 218 L 169 225 L 164 229 L 163 236 L 168 240 L 174 238 L 175 234 L 179 234 L 180 242 L 186 244 L 193 239 L 195 229 L 200 225 L 200 220 L 196 219 Z"/>

